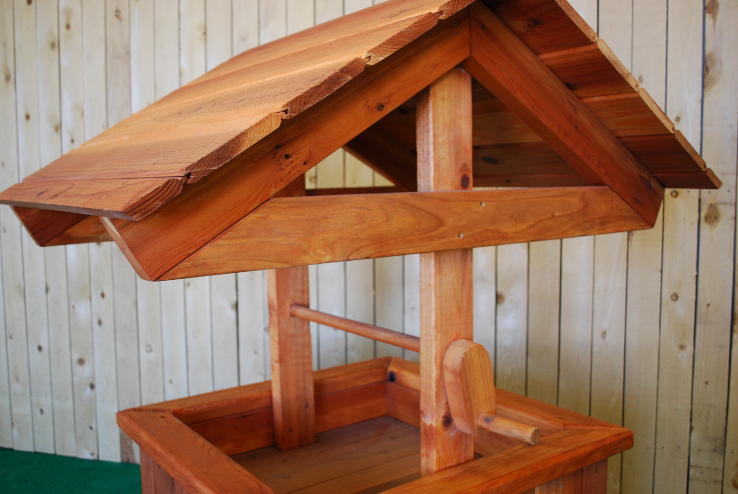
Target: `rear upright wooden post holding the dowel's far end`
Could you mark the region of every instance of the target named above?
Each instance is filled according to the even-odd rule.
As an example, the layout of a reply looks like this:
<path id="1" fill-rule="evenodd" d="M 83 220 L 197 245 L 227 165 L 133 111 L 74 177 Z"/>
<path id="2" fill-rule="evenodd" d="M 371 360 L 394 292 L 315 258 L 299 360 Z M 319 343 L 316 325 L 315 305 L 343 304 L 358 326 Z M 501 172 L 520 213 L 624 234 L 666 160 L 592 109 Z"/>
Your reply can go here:
<path id="1" fill-rule="evenodd" d="M 305 195 L 303 177 L 281 191 L 280 195 Z M 284 451 L 315 442 L 310 326 L 308 320 L 294 318 L 289 313 L 293 303 L 310 305 L 308 267 L 269 270 L 266 280 L 269 291 L 275 447 Z"/>

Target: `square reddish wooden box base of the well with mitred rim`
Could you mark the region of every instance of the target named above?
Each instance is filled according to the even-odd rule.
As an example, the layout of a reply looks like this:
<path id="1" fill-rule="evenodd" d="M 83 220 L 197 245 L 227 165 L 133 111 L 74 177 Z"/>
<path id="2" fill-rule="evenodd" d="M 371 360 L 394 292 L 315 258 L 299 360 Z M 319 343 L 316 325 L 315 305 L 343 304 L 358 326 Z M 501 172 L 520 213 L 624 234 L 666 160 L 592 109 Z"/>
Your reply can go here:
<path id="1" fill-rule="evenodd" d="M 151 493 L 605 493 L 630 430 L 497 390 L 497 414 L 538 445 L 489 434 L 476 459 L 420 477 L 418 365 L 385 357 L 314 373 L 317 442 L 275 447 L 269 382 L 118 414 Z M 250 453 L 249 453 L 250 452 Z M 247 465 L 249 470 L 244 467 Z"/>

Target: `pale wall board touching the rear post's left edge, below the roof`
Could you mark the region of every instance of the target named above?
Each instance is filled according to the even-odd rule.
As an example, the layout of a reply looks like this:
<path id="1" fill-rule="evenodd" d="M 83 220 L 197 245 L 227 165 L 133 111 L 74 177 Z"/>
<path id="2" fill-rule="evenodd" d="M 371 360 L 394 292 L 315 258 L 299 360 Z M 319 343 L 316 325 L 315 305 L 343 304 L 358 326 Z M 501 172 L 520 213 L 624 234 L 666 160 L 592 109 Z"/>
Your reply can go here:
<path id="1" fill-rule="evenodd" d="M 263 271 L 238 273 L 238 379 L 241 385 L 266 380 L 264 353 L 268 329 L 264 327 Z"/>

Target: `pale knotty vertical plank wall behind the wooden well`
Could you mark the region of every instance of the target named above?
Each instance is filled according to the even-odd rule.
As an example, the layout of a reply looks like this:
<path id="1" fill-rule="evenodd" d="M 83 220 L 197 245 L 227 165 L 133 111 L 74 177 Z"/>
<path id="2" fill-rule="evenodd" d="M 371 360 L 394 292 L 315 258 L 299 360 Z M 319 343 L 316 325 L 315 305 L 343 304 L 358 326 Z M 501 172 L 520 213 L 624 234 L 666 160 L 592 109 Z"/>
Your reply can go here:
<path id="1" fill-rule="evenodd" d="M 376 3 L 375 0 L 374 3 Z M 0 186 L 230 56 L 372 0 L 0 0 Z M 656 227 L 475 250 L 497 385 L 635 433 L 610 493 L 738 493 L 738 0 L 573 0 L 723 179 Z M 385 185 L 343 151 L 308 188 Z M 151 284 L 0 208 L 0 447 L 136 462 L 117 410 L 269 379 L 263 272 Z M 418 256 L 311 267 L 311 305 L 418 335 Z M 417 354 L 313 324 L 316 368 Z"/>

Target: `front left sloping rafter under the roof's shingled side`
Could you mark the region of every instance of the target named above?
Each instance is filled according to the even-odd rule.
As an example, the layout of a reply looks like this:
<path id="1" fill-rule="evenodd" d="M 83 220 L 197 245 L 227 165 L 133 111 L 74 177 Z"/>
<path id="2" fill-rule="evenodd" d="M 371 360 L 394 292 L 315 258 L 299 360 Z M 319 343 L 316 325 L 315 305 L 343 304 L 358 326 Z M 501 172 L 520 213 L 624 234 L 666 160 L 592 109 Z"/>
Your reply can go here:
<path id="1" fill-rule="evenodd" d="M 462 61 L 469 49 L 468 22 L 463 13 L 456 26 L 455 21 L 449 19 L 330 98 L 290 119 L 279 132 L 241 154 L 231 165 L 210 174 L 199 185 L 188 187 L 177 199 L 160 208 L 156 216 L 138 222 L 106 220 L 111 236 L 120 241 L 142 278 L 159 278 L 292 179 Z M 438 43 L 440 39 L 444 40 L 442 44 Z M 397 80 L 411 83 L 399 87 Z M 367 105 L 366 101 L 371 103 Z M 316 142 L 315 135 L 324 138 Z M 251 165 L 244 166 L 249 162 Z M 244 187 L 244 183 L 249 183 L 249 187 Z M 173 244 L 179 247 L 171 249 Z"/>

